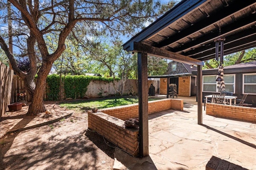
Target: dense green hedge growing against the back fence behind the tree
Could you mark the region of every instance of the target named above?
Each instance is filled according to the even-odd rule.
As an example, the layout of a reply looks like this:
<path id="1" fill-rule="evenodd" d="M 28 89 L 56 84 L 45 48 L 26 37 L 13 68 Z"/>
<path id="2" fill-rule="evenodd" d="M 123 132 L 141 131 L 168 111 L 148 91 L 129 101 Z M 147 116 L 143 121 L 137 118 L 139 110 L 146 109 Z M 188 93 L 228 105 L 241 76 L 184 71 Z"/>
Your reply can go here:
<path id="1" fill-rule="evenodd" d="M 106 82 L 113 82 L 112 77 L 105 78 L 99 76 L 65 76 L 62 77 L 62 82 L 64 82 L 64 91 L 66 98 L 82 98 L 87 91 L 87 86 L 91 80 L 102 80 Z M 118 79 L 120 80 L 120 79 Z M 57 74 L 48 75 L 46 82 L 47 87 L 47 100 L 58 100 L 60 92 L 60 76 Z"/>

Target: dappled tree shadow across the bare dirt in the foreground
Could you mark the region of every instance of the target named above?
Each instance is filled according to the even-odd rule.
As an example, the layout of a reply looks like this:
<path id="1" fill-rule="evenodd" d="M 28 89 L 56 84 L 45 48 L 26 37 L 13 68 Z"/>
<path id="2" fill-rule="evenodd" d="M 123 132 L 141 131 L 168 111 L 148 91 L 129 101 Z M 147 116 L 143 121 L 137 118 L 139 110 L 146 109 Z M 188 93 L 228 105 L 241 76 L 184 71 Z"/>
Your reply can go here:
<path id="1" fill-rule="evenodd" d="M 9 138 L 14 141 L 16 136 Z M 41 138 L 38 136 L 29 139 L 22 144 L 27 146 L 26 149 L 19 151 L 9 150 L 11 145 L 3 147 L 0 152 L 0 164 L 3 166 L 0 169 L 8 168 L 5 165 L 12 165 L 12 169 L 63 169 L 64 167 L 76 170 L 104 169 L 102 164 L 104 160 L 99 160 L 97 147 L 114 157 L 114 149 L 108 147 L 103 139 L 100 140 L 98 135 L 91 132 L 84 131 L 66 139 L 61 139 L 58 134 L 52 135 L 46 141 Z M 31 143 L 38 145 L 31 146 Z M 11 153 L 4 156 L 6 152 Z"/>

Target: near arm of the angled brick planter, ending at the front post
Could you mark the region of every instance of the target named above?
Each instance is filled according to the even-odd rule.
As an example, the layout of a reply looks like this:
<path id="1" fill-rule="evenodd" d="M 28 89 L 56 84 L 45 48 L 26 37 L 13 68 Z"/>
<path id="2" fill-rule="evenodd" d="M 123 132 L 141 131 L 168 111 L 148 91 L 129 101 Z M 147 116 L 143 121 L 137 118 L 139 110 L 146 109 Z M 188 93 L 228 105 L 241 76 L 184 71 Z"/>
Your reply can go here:
<path id="1" fill-rule="evenodd" d="M 102 112 L 88 111 L 88 128 L 97 131 L 106 139 L 132 154 L 138 155 L 138 128 L 127 128 L 124 121 Z"/>

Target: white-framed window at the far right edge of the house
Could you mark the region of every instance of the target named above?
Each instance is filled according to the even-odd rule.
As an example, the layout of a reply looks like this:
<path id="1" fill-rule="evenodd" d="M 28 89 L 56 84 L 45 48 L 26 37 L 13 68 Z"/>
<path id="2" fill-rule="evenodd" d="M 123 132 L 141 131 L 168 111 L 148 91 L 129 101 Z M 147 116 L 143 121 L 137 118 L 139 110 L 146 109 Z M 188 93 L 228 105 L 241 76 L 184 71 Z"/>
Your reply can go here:
<path id="1" fill-rule="evenodd" d="M 243 93 L 256 94 L 256 74 L 243 74 Z"/>

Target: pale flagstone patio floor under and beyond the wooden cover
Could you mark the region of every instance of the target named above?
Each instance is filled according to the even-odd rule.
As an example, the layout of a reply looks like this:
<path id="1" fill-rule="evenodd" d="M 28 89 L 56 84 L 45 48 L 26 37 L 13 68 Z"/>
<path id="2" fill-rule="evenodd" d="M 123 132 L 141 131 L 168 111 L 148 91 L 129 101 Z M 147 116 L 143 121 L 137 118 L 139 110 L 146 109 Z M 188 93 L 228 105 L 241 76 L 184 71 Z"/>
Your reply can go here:
<path id="1" fill-rule="evenodd" d="M 206 115 L 197 124 L 197 106 L 149 115 L 149 156 L 135 158 L 116 149 L 114 169 L 205 170 L 212 156 L 256 169 L 256 124 Z"/>

